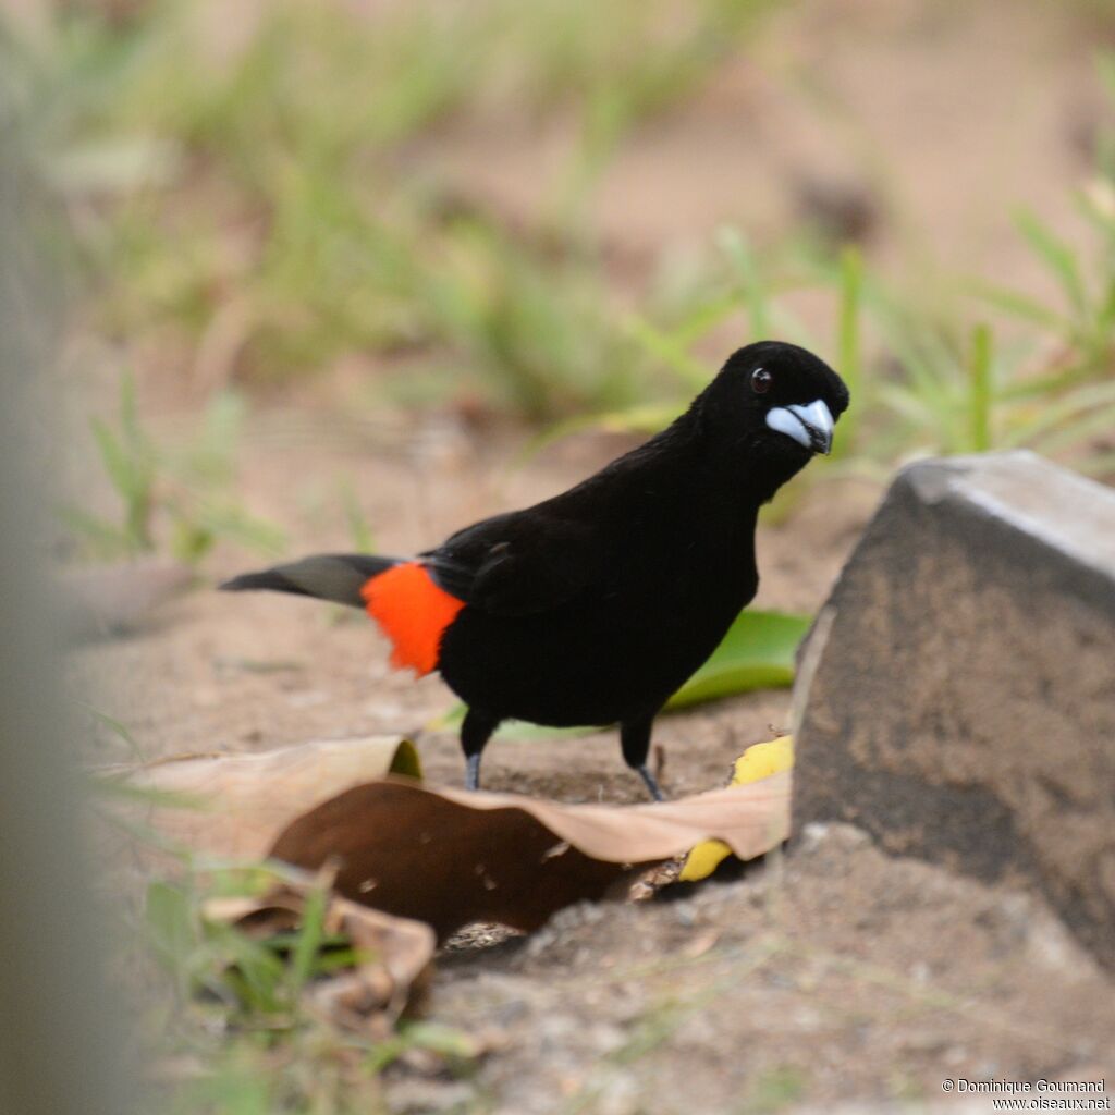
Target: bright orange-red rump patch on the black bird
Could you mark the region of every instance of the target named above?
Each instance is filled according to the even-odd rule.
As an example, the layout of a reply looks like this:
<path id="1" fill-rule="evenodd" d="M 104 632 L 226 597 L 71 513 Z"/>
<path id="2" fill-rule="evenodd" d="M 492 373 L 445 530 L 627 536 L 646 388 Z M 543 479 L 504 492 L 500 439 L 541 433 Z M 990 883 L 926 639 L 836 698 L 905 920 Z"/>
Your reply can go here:
<path id="1" fill-rule="evenodd" d="M 439 589 L 416 561 L 371 578 L 360 595 L 368 614 L 394 644 L 391 666 L 411 669 L 419 678 L 437 669 L 442 632 L 465 607 L 463 601 Z"/>

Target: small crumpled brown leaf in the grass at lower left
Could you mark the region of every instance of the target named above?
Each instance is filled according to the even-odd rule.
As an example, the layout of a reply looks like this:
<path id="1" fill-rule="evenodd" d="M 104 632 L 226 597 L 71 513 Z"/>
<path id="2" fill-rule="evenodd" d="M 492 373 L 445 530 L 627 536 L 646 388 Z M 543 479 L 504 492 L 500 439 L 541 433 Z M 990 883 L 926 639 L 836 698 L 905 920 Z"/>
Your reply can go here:
<path id="1" fill-rule="evenodd" d="M 215 899 L 205 914 L 234 924 L 255 940 L 266 940 L 298 928 L 314 880 L 291 880 L 259 900 Z M 385 1038 L 391 1024 L 424 990 L 434 957 L 435 939 L 428 925 L 395 918 L 331 894 L 324 930 L 352 946 L 358 963 L 303 989 L 307 1005 L 345 1029 Z"/>

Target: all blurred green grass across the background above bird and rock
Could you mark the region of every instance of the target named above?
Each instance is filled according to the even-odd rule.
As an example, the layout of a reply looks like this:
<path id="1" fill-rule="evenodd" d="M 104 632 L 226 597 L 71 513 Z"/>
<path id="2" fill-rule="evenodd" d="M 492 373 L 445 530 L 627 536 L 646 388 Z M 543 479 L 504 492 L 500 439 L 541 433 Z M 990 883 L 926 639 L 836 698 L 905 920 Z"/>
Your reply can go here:
<path id="1" fill-rule="evenodd" d="M 779 336 L 830 356 L 855 400 L 814 478 L 1012 446 L 1111 474 L 1109 129 L 1078 198 L 1095 259 L 1037 214 L 1017 217 L 1056 298 L 961 277 L 930 294 L 807 229 L 760 245 L 728 227 L 690 273 L 644 275 L 620 299 L 594 187 L 632 130 L 746 49 L 772 7 L 423 0 L 369 18 L 277 0 L 214 7 L 214 23 L 183 2 L 66 4 L 35 33 L 0 22 L 0 117 L 72 216 L 96 327 L 157 346 L 216 398 L 359 355 L 397 398 L 479 400 L 545 436 L 644 432 L 707 382 L 725 343 Z M 1115 103 L 1115 62 L 1098 74 Z M 459 154 L 508 105 L 533 134 L 556 122 L 573 137 L 539 174 L 541 216 L 525 227 L 427 157 Z M 826 334 L 795 316 L 802 298 L 828 308 Z M 99 546 L 145 549 L 166 462 L 123 405 L 118 429 L 95 434 L 125 504 Z M 235 515 L 198 525 L 162 506 L 186 554 L 239 530 Z"/>

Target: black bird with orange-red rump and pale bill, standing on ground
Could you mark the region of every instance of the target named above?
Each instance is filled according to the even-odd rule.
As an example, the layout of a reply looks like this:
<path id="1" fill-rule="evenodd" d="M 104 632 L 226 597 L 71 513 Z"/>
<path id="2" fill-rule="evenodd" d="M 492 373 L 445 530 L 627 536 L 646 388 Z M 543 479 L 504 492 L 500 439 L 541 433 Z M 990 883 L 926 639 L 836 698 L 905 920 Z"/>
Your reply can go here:
<path id="1" fill-rule="evenodd" d="M 647 767 L 656 715 L 755 595 L 759 507 L 828 453 L 847 388 L 795 345 L 739 349 L 671 426 L 561 495 L 415 559 L 319 554 L 223 589 L 367 608 L 391 663 L 468 706 L 465 784 L 502 720 L 620 726 Z"/>

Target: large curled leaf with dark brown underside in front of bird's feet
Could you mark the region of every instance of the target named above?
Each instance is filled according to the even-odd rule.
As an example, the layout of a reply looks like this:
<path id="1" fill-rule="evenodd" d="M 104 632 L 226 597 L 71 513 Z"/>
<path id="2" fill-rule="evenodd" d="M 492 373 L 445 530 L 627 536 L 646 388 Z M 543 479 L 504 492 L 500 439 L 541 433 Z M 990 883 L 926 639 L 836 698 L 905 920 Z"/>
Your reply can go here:
<path id="1" fill-rule="evenodd" d="M 789 778 L 634 806 L 376 782 L 299 816 L 270 854 L 311 871 L 332 862 L 346 898 L 425 921 L 442 940 L 473 921 L 531 930 L 706 838 L 741 860 L 769 851 L 789 834 Z"/>

